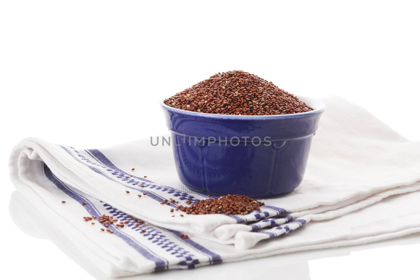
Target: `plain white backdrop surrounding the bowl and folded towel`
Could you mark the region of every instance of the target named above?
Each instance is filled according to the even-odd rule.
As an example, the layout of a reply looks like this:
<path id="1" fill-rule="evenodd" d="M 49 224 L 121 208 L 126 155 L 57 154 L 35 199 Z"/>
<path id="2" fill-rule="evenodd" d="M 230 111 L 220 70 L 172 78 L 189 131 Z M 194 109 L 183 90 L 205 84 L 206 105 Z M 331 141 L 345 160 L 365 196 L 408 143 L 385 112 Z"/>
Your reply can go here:
<path id="1" fill-rule="evenodd" d="M 0 3 L 4 279 L 93 279 L 11 221 L 7 159 L 18 141 L 100 148 L 165 133 L 159 100 L 216 72 L 252 72 L 297 96 L 342 96 L 420 140 L 416 1 Z M 414 279 L 419 244 L 410 236 L 206 267 L 194 277 L 249 279 L 254 262 L 267 277 L 287 279 L 292 269 L 302 279 Z"/>

